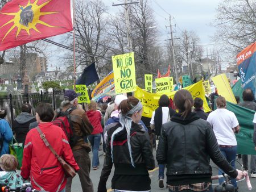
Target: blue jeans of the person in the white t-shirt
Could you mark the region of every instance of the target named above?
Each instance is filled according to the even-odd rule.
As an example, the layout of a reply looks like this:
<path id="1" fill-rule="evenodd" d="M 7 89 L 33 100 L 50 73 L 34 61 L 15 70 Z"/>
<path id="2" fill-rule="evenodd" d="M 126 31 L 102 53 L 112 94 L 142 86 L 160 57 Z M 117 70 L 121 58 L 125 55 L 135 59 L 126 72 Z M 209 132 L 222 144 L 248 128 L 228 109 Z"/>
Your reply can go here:
<path id="1" fill-rule="evenodd" d="M 220 147 L 220 151 L 222 153 L 222 155 L 224 155 L 224 157 L 226 158 L 226 160 L 228 160 L 228 162 L 230 163 L 231 161 L 231 166 L 233 166 L 234 169 L 236 169 L 236 156 L 237 156 L 237 146 L 233 146 L 233 147 Z M 223 171 L 221 169 L 218 170 L 218 174 L 222 175 Z M 218 180 L 218 183 L 222 183 L 224 182 L 224 178 L 220 178 Z M 237 187 L 237 180 L 236 179 L 232 179 L 231 183 L 234 187 Z"/>

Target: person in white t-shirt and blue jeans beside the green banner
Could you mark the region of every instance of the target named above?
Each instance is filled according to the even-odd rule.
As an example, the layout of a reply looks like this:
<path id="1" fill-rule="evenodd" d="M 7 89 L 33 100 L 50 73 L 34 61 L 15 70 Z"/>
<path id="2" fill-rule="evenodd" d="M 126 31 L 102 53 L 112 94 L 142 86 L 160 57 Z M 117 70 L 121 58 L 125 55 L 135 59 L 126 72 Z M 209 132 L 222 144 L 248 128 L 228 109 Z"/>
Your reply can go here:
<path id="1" fill-rule="evenodd" d="M 213 127 L 220 151 L 235 168 L 234 160 L 236 160 L 237 155 L 237 140 L 234 133 L 238 133 L 240 126 L 236 115 L 226 109 L 226 99 L 224 97 L 218 97 L 216 105 L 217 110 L 209 114 L 207 121 Z M 219 170 L 219 174 L 222 174 L 222 170 Z M 223 179 L 219 180 L 220 183 L 223 181 Z M 237 188 L 236 180 L 231 180 L 231 182 Z"/>

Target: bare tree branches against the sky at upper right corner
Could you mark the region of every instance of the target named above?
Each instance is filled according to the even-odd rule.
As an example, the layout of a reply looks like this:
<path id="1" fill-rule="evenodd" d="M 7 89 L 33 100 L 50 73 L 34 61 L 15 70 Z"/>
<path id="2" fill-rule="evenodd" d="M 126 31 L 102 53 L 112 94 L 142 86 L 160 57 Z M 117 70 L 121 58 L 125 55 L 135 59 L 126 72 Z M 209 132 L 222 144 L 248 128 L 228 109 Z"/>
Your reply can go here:
<path id="1" fill-rule="evenodd" d="M 212 23 L 217 28 L 214 40 L 234 59 L 243 48 L 255 42 L 255 11 L 255 0 L 224 0 L 218 6 L 216 20 Z"/>

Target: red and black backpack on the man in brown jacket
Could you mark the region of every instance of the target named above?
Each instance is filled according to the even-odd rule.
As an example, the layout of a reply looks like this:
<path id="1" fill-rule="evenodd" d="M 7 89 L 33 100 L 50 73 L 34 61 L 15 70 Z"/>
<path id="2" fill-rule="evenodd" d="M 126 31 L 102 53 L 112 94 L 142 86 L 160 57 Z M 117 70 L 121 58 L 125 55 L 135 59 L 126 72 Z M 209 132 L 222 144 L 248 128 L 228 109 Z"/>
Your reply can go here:
<path id="1" fill-rule="evenodd" d="M 71 147 L 74 147 L 78 140 L 84 139 L 83 136 L 76 135 L 73 127 L 73 122 L 71 120 L 71 112 L 75 109 L 76 107 L 70 107 L 67 111 L 61 111 L 60 108 L 58 108 L 57 115 L 52 121 L 52 123 L 55 126 L 59 126 L 63 129 Z"/>

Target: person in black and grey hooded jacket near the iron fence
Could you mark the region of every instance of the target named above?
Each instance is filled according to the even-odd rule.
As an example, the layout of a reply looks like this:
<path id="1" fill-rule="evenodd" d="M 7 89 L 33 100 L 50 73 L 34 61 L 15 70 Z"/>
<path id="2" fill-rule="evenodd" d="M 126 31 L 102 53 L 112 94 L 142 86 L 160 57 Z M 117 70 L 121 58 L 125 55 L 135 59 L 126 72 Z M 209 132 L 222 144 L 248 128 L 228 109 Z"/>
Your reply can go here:
<path id="1" fill-rule="evenodd" d="M 32 107 L 30 104 L 24 104 L 21 110 L 22 112 L 14 120 L 13 130 L 15 132 L 15 139 L 18 143 L 23 143 L 24 146 L 30 123 L 35 122 L 36 118 L 31 115 Z"/>

